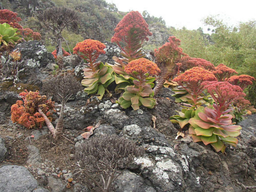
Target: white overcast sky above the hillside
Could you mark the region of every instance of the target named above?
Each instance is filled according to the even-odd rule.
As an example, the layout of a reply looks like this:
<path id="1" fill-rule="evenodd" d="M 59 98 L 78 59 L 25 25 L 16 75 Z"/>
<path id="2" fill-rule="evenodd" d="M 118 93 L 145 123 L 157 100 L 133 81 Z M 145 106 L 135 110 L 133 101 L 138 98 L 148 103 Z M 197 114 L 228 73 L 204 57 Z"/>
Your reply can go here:
<path id="1" fill-rule="evenodd" d="M 181 29 L 198 29 L 207 32 L 202 19 L 210 15 L 220 15 L 229 26 L 237 26 L 239 22 L 256 20 L 255 0 L 106 0 L 114 3 L 119 11 L 144 10 L 150 16 L 162 17 L 167 26 Z"/>

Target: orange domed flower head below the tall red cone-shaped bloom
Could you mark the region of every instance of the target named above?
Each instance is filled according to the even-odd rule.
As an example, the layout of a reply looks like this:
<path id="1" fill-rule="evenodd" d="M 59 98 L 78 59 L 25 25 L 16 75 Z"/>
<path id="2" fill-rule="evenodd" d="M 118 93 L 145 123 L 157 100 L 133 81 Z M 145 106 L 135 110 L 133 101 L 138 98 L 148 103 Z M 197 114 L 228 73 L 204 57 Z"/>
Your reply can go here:
<path id="1" fill-rule="evenodd" d="M 157 64 L 145 58 L 130 61 L 124 67 L 124 71 L 131 75 L 134 74 L 134 71 L 139 73 L 139 75 L 148 73 L 150 76 L 158 75 L 160 73 L 160 69 L 158 68 Z"/>

